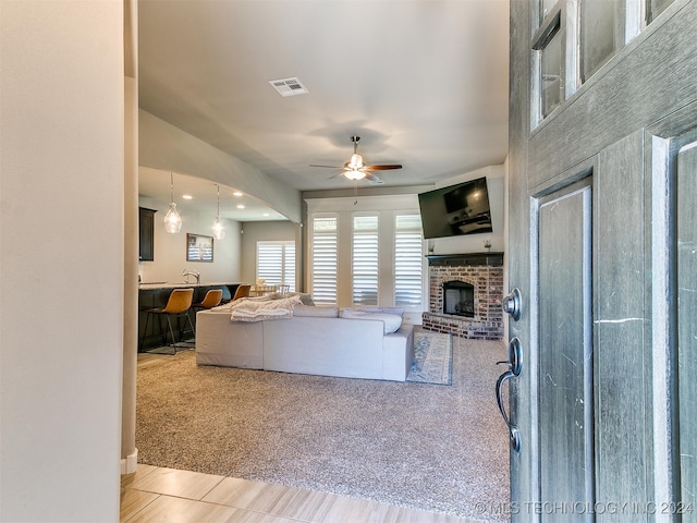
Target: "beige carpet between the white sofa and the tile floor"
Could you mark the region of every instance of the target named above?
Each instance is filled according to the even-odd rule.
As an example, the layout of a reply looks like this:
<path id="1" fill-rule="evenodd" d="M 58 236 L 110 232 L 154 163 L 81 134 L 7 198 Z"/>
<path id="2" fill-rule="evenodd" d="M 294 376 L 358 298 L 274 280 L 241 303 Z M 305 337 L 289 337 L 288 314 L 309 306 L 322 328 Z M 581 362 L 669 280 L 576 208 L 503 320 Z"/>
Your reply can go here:
<path id="1" fill-rule="evenodd" d="M 451 387 L 199 367 L 180 353 L 138 370 L 138 459 L 505 521 L 476 504 L 509 499 L 494 399 L 505 345 L 453 340 Z"/>

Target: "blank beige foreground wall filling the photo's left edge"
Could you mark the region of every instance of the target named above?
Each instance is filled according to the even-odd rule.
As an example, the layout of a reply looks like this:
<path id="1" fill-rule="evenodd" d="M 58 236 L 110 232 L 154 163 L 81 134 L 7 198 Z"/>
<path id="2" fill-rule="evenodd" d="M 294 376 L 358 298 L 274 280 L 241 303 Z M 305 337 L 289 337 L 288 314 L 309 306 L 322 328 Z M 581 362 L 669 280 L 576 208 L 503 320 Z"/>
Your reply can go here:
<path id="1" fill-rule="evenodd" d="M 115 522 L 123 3 L 0 9 L 0 514 Z"/>

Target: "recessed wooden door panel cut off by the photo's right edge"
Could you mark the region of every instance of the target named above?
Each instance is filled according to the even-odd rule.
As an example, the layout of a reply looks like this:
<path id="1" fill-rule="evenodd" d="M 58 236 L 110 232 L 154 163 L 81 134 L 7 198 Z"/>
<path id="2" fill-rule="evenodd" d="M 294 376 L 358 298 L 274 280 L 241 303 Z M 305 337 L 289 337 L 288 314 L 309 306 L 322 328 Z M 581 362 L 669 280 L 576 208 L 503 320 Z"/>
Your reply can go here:
<path id="1" fill-rule="evenodd" d="M 677 398 L 684 523 L 697 522 L 697 143 L 677 156 Z"/>

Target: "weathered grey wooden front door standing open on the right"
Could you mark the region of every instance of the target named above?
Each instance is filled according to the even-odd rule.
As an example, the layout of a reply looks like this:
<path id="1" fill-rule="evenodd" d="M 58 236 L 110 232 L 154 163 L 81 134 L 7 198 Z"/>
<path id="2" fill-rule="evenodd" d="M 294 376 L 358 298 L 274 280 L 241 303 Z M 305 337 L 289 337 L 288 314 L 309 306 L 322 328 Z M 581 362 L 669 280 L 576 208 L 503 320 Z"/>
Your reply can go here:
<path id="1" fill-rule="evenodd" d="M 549 107 L 531 72 L 558 45 L 573 73 L 584 2 L 530 40 L 538 3 L 511 2 L 512 520 L 696 522 L 697 0 Z"/>

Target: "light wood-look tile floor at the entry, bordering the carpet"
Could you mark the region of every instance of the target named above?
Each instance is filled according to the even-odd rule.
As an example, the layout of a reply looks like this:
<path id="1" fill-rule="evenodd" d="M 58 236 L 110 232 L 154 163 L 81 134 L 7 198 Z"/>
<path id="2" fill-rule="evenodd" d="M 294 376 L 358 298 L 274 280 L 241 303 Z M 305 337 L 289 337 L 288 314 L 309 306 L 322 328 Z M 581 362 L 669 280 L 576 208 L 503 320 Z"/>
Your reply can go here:
<path id="1" fill-rule="evenodd" d="M 139 464 L 121 479 L 121 523 L 474 523 L 234 477 Z"/>

